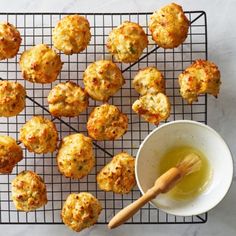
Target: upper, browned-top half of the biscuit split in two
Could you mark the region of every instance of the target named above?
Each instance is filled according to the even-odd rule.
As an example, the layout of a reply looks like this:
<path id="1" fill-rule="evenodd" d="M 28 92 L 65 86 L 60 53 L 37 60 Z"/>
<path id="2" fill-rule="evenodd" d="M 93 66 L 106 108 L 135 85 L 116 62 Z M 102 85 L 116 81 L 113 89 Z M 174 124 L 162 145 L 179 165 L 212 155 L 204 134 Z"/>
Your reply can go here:
<path id="1" fill-rule="evenodd" d="M 165 80 L 156 67 L 141 69 L 133 80 L 133 86 L 140 95 L 165 93 Z"/>

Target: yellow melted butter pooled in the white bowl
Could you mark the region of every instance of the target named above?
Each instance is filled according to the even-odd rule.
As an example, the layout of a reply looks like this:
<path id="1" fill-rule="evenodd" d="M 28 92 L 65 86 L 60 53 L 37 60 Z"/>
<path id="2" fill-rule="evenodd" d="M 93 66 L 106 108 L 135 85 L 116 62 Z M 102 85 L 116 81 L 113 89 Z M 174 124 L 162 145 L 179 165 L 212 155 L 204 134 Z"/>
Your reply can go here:
<path id="1" fill-rule="evenodd" d="M 168 195 L 176 200 L 191 199 L 199 195 L 206 189 L 210 180 L 210 166 L 202 152 L 189 146 L 178 146 L 167 151 L 160 160 L 159 172 L 163 174 L 168 169 L 176 166 L 190 153 L 197 154 L 202 162 L 201 169 L 195 173 L 189 174 L 171 190 Z"/>

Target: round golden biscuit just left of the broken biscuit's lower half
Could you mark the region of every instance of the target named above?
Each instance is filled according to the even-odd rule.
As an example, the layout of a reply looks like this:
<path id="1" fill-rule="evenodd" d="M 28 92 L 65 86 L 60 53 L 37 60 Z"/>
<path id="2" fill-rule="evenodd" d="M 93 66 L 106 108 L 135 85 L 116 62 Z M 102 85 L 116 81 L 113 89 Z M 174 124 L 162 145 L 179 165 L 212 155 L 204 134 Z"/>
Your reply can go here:
<path id="1" fill-rule="evenodd" d="M 95 140 L 115 140 L 128 129 L 128 117 L 116 106 L 95 107 L 87 122 L 88 134 Z"/>

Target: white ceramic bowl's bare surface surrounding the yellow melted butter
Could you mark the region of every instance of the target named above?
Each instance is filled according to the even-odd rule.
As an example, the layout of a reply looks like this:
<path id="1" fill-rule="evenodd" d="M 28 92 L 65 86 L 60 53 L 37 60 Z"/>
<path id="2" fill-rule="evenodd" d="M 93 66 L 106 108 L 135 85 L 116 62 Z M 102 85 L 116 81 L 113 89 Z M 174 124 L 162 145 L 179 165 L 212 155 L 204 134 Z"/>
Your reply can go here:
<path id="1" fill-rule="evenodd" d="M 142 142 L 136 156 L 135 175 L 138 187 L 144 193 L 153 186 L 160 175 L 160 158 L 176 145 L 188 145 L 202 151 L 212 169 L 211 180 L 207 188 L 195 198 L 177 201 L 161 194 L 151 203 L 173 215 L 191 216 L 204 213 L 216 206 L 227 193 L 233 177 L 233 161 L 221 136 L 202 123 L 180 120 L 153 130 Z"/>

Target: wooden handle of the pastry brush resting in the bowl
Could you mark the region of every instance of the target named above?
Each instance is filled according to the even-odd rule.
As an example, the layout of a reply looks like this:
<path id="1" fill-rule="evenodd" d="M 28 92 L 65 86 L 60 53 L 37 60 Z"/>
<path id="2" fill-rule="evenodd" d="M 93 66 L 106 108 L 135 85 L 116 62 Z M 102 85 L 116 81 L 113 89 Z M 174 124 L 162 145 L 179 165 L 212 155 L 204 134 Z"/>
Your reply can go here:
<path id="1" fill-rule="evenodd" d="M 125 223 L 132 217 L 141 207 L 150 200 L 154 199 L 158 194 L 169 191 L 177 181 L 181 178 L 181 173 L 177 168 L 171 168 L 161 175 L 155 182 L 155 185 L 139 199 L 119 211 L 109 222 L 108 228 L 113 229 Z"/>

